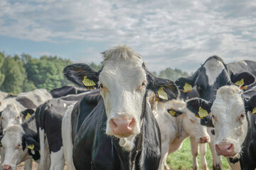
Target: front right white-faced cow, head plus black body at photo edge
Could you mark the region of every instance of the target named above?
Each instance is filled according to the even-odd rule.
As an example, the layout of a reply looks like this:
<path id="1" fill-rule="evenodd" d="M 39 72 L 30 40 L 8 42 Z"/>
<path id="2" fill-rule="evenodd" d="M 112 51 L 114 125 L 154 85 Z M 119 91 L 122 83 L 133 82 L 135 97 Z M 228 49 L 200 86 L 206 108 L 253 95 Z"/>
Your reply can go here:
<path id="1" fill-rule="evenodd" d="M 223 86 L 213 101 L 194 98 L 187 106 L 198 116 L 210 113 L 218 154 L 240 163 L 241 169 L 256 168 L 256 88 L 243 92 L 238 86 Z"/>

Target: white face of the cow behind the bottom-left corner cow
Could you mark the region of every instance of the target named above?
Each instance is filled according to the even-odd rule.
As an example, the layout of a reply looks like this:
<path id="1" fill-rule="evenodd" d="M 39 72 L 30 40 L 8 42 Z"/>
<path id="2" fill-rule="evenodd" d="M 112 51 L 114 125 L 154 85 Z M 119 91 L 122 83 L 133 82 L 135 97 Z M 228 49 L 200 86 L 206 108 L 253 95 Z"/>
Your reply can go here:
<path id="1" fill-rule="evenodd" d="M 21 125 L 21 111 L 16 104 L 8 104 L 6 108 L 4 108 L 4 111 L 1 113 L 1 122 L 4 131 L 9 125 Z"/>

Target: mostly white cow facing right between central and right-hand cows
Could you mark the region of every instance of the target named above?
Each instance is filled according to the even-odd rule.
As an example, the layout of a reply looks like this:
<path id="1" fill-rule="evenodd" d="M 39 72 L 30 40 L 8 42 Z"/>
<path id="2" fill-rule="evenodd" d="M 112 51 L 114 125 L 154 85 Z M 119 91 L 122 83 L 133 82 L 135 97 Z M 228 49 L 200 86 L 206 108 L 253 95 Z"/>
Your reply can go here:
<path id="1" fill-rule="evenodd" d="M 159 123 L 161 131 L 161 162 L 159 170 L 170 169 L 166 164 L 169 154 L 181 148 L 183 141 L 190 137 L 191 152 L 193 155 L 193 169 L 199 169 L 197 162 L 198 143 L 201 147 L 201 164 L 203 169 L 208 169 L 206 162 L 206 142 L 210 142 L 210 137 L 206 126 L 200 124 L 200 118 L 196 118 L 191 111 L 186 108 L 183 99 L 172 100 L 166 103 L 159 102 L 152 93 L 149 97 L 151 108 Z M 167 112 L 167 108 L 171 108 Z"/>

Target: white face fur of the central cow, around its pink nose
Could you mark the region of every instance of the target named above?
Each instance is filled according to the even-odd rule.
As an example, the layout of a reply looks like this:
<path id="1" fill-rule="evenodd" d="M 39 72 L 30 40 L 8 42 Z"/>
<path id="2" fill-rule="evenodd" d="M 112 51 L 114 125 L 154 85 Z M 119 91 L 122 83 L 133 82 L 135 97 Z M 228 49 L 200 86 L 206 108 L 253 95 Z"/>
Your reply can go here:
<path id="1" fill-rule="evenodd" d="M 104 99 L 107 114 L 107 135 L 114 135 L 110 128 L 110 120 L 125 117 L 134 119 L 135 125 L 133 135 L 140 132 L 140 115 L 142 114 L 142 101 L 146 93 L 146 72 L 142 68 L 142 57 L 132 51 L 127 46 L 119 46 L 104 53 L 105 60 L 100 73 L 99 84 L 101 95 Z M 116 135 L 122 139 L 122 137 Z M 125 149 L 133 148 L 134 137 L 125 137 L 120 144 L 124 144 Z M 128 146 L 129 145 L 129 146 Z"/>

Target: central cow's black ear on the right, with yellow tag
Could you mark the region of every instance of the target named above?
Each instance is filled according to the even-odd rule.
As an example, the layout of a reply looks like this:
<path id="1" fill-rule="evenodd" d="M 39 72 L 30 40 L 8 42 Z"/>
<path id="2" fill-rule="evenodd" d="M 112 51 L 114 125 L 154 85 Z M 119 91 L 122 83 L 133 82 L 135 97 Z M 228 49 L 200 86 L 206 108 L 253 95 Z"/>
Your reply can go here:
<path id="1" fill-rule="evenodd" d="M 178 97 L 179 91 L 174 81 L 154 77 L 154 75 L 146 69 L 144 64 L 143 67 L 146 71 L 146 79 L 148 82 L 146 89 L 154 91 L 159 101 L 165 102 Z"/>

